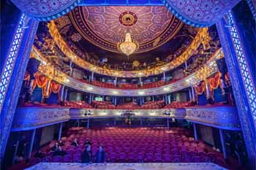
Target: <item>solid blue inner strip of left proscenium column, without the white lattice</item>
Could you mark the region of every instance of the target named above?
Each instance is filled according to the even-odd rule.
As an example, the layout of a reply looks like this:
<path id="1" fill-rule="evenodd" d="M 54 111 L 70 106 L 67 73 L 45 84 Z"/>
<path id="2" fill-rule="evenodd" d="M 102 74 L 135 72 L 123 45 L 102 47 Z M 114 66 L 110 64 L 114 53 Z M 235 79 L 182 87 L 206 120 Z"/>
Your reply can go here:
<path id="1" fill-rule="evenodd" d="M 29 18 L 27 18 L 29 19 Z M 14 65 L 12 66 L 12 72 L 9 74 L 10 83 L 7 88 L 7 93 L 4 98 L 4 102 L 1 110 L 0 117 L 0 152 L 1 158 L 4 156 L 5 147 L 7 145 L 7 139 L 10 135 L 10 129 L 12 127 L 12 120 L 15 115 L 15 109 L 18 103 L 18 96 L 23 84 L 23 77 L 26 71 L 26 66 L 29 61 L 29 54 L 34 42 L 34 36 L 37 33 L 38 23 L 35 20 L 24 20 L 24 23 L 28 24 L 28 28 L 24 28 L 22 39 L 20 39 L 20 48 L 15 55 Z M 22 26 L 22 25 L 19 25 Z M 18 40 L 16 40 L 18 42 Z M 1 161 L 0 158 L 0 161 Z"/>

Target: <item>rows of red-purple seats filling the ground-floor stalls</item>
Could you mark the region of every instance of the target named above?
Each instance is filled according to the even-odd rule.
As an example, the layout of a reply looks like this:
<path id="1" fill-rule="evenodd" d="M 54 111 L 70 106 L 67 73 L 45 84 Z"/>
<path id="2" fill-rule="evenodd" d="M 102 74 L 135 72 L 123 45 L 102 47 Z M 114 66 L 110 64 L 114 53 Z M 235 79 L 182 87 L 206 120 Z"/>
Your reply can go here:
<path id="1" fill-rule="evenodd" d="M 70 145 L 74 139 L 79 146 Z M 93 155 L 103 145 L 107 161 L 113 163 L 213 162 L 227 166 L 219 152 L 194 140 L 192 132 L 184 128 L 69 128 L 61 138 L 67 154 L 61 157 L 48 152 L 41 161 L 80 162 L 86 139 Z M 48 150 L 55 142 L 50 142 Z"/>

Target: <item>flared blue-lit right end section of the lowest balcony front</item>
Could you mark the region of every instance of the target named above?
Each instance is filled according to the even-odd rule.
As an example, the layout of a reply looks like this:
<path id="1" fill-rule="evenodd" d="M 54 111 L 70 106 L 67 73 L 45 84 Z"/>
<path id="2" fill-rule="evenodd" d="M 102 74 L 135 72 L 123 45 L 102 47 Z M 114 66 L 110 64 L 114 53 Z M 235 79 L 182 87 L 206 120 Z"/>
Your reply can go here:
<path id="1" fill-rule="evenodd" d="M 236 107 L 187 107 L 186 120 L 227 130 L 240 130 Z"/>

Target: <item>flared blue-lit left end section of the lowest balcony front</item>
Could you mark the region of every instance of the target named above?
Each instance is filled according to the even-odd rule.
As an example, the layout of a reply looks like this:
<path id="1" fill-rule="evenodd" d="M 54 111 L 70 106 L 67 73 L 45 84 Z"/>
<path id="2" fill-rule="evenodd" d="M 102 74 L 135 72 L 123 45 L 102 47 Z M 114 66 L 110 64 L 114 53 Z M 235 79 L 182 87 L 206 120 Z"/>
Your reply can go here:
<path id="1" fill-rule="evenodd" d="M 67 107 L 18 107 L 12 131 L 27 131 L 70 119 Z"/>

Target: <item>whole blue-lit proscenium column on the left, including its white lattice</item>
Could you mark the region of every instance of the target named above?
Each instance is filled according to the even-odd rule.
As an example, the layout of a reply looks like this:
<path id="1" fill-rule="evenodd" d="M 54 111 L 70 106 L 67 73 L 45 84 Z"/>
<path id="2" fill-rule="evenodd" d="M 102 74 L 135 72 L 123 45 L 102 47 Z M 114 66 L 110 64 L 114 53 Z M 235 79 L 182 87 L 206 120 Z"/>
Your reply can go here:
<path id="1" fill-rule="evenodd" d="M 23 83 L 29 55 L 37 33 L 38 22 L 29 20 L 26 15 L 15 16 L 19 23 L 10 34 L 10 46 L 1 68 L 0 80 L 0 164 L 4 157 L 9 138 L 12 119 L 15 113 L 18 96 Z"/>

